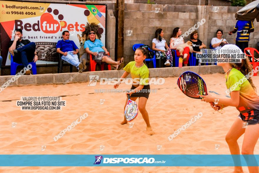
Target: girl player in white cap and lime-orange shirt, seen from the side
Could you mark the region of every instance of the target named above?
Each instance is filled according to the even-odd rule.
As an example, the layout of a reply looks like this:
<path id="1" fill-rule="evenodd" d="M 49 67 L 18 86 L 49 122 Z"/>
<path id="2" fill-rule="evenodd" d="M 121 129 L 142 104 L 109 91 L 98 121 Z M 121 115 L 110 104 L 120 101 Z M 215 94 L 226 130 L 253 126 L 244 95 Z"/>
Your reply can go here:
<path id="1" fill-rule="evenodd" d="M 239 50 L 236 45 L 225 45 L 221 49 L 223 50 Z M 230 89 L 231 98 L 219 95 L 198 95 L 203 97 L 202 101 L 210 102 L 212 108 L 216 111 L 225 108 L 226 106 L 234 106 L 240 112 L 235 122 L 231 126 L 225 139 L 228 143 L 231 154 L 240 154 L 238 146 L 238 138 L 244 135 L 242 151 L 245 161 L 247 163 L 255 163 L 248 167 L 249 172 L 258 173 L 258 164 L 255 157 L 246 159 L 245 154 L 253 155 L 255 144 L 259 138 L 259 96 L 256 94 L 256 88 L 252 79 L 249 77 L 244 78 L 252 72 L 252 65 L 249 63 L 249 59 L 243 59 L 242 63 L 218 63 L 225 71 L 226 85 Z M 245 79 L 245 80 L 240 80 Z M 247 80 L 246 80 L 247 79 Z M 213 105 L 215 99 L 219 99 L 218 105 Z M 225 117 L 227 120 L 228 117 Z M 244 128 L 248 125 L 246 128 Z M 234 162 L 240 165 L 240 158 L 234 159 Z M 241 166 L 235 166 L 234 172 L 243 172 Z"/>

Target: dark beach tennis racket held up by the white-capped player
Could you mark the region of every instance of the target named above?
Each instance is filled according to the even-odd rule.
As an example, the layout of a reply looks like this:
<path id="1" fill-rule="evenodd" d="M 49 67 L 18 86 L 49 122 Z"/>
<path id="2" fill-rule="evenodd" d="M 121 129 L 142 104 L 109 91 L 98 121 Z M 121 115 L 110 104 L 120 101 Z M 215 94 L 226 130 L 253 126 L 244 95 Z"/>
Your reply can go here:
<path id="1" fill-rule="evenodd" d="M 194 72 L 186 71 L 180 75 L 177 85 L 190 98 L 202 99 L 199 95 L 208 95 L 204 80 Z"/>

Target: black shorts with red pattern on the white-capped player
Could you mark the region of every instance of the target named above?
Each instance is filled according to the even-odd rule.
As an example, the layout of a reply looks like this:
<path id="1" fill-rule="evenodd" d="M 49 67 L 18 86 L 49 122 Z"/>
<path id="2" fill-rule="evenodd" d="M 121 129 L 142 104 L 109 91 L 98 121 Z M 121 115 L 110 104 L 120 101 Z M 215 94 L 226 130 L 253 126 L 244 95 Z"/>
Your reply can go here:
<path id="1" fill-rule="evenodd" d="M 247 125 L 254 125 L 259 123 L 259 110 L 248 111 L 247 113 L 240 113 L 238 118 L 247 122 Z"/>

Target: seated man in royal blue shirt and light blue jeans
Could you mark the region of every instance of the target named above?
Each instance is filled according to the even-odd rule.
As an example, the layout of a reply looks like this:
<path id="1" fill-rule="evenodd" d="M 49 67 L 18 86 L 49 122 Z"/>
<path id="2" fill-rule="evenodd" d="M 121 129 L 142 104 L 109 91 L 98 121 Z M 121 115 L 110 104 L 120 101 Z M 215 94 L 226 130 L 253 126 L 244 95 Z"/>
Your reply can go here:
<path id="1" fill-rule="evenodd" d="M 78 47 L 72 40 L 69 40 L 69 35 L 69 31 L 62 32 L 63 39 L 57 42 L 57 52 L 63 55 L 62 60 L 76 66 L 79 73 L 82 73 L 86 69 L 86 60 L 83 59 L 82 63 L 79 62 L 77 56 Z"/>

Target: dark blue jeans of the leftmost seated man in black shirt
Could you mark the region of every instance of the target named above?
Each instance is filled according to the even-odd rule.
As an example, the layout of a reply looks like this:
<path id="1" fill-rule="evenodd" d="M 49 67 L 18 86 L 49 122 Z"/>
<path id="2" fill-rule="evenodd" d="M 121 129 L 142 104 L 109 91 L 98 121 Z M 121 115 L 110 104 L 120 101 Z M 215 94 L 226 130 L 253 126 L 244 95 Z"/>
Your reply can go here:
<path id="1" fill-rule="evenodd" d="M 31 42 L 23 47 L 20 47 L 17 50 L 17 54 L 14 55 L 14 62 L 22 63 L 24 67 L 29 65 L 29 62 L 32 62 L 34 59 L 34 52 L 36 45 L 34 42 Z"/>

